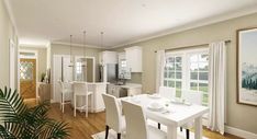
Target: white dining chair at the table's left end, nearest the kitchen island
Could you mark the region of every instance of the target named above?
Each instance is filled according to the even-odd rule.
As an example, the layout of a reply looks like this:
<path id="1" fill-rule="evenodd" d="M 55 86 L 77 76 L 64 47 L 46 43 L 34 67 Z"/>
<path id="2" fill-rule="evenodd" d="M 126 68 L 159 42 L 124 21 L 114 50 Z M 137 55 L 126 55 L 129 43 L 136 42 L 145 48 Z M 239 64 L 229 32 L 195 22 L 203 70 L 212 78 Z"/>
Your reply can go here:
<path id="1" fill-rule="evenodd" d="M 108 139 L 110 128 L 115 130 L 118 139 L 121 139 L 121 135 L 125 131 L 126 127 L 121 106 L 115 96 L 102 94 L 102 97 L 105 105 L 105 139 Z"/>

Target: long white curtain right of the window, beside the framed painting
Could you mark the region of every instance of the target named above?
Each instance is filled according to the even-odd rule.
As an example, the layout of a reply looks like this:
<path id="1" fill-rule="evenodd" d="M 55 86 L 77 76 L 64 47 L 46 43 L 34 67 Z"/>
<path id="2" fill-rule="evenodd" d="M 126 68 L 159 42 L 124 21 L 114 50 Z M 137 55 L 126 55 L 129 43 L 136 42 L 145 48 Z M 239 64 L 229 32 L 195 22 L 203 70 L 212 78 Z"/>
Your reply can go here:
<path id="1" fill-rule="evenodd" d="M 209 125 L 208 128 L 224 134 L 226 47 L 225 42 L 211 43 L 209 60 Z"/>

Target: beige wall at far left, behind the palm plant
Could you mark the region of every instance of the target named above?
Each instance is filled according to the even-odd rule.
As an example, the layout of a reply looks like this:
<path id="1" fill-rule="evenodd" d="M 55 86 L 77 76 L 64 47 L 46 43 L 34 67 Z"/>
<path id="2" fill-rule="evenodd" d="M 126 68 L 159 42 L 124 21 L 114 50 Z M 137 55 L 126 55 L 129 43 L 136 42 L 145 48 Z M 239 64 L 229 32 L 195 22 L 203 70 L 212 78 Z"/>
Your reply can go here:
<path id="1" fill-rule="evenodd" d="M 10 21 L 10 16 L 3 3 L 0 1 L 0 88 L 9 86 L 9 39 L 12 39 L 14 44 L 18 44 L 18 37 L 15 35 L 15 30 Z M 15 47 L 16 49 L 16 47 Z M 16 53 L 16 51 L 15 51 Z M 16 59 L 16 57 L 15 57 Z M 15 60 L 16 63 L 16 60 Z M 15 67 L 16 69 L 16 67 Z M 15 76 L 16 77 L 16 72 Z M 16 80 L 16 79 L 15 79 Z M 16 86 L 16 82 L 15 82 Z"/>

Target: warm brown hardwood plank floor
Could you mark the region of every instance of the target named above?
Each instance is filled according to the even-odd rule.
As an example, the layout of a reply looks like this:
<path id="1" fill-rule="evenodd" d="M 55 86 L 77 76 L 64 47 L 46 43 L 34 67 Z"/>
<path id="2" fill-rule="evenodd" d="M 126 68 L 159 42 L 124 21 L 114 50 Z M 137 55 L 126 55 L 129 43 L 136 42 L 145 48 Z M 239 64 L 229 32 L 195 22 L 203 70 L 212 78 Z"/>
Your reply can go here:
<path id="1" fill-rule="evenodd" d="M 27 105 L 35 105 L 35 101 L 26 102 Z M 52 104 L 48 116 L 56 120 L 69 123 L 71 127 L 70 139 L 92 139 L 91 135 L 103 131 L 105 128 L 105 113 L 97 113 L 85 117 L 85 113 L 77 112 L 77 117 L 74 117 L 74 111 L 70 105 L 65 106 L 65 114 L 59 109 L 59 104 Z M 242 139 L 233 135 L 225 134 L 221 136 L 217 132 L 212 132 L 204 128 L 203 135 L 210 139 Z"/>

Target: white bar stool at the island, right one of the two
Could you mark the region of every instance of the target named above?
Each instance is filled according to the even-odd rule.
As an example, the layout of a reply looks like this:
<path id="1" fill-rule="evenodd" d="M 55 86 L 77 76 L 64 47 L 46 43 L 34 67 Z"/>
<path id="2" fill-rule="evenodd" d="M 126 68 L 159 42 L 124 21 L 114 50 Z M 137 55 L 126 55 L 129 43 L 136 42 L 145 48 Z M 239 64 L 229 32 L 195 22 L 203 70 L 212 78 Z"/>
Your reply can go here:
<path id="1" fill-rule="evenodd" d="M 77 109 L 77 97 L 82 96 L 85 97 L 85 108 L 86 117 L 88 117 L 88 108 L 89 108 L 89 96 L 91 96 L 91 106 L 92 106 L 92 92 L 88 91 L 88 84 L 86 82 L 74 82 L 74 116 L 76 117 L 76 109 Z"/>

